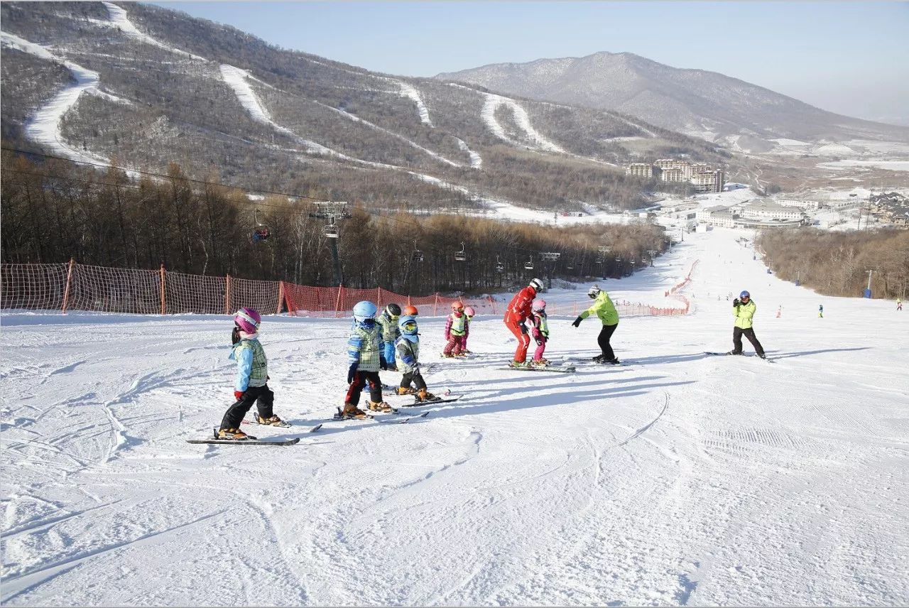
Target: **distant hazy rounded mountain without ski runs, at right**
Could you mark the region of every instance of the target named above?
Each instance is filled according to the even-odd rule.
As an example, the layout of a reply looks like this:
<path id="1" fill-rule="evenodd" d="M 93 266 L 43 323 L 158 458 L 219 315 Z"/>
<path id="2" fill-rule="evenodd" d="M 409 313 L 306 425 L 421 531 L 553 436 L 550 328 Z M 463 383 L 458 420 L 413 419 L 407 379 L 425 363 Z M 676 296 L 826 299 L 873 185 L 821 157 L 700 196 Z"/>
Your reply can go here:
<path id="1" fill-rule="evenodd" d="M 436 78 L 623 112 L 709 141 L 744 145 L 744 137 L 753 140 L 747 145 L 757 152 L 772 149 L 775 138 L 909 142 L 905 126 L 836 115 L 737 78 L 674 68 L 631 53 L 484 65 Z"/>

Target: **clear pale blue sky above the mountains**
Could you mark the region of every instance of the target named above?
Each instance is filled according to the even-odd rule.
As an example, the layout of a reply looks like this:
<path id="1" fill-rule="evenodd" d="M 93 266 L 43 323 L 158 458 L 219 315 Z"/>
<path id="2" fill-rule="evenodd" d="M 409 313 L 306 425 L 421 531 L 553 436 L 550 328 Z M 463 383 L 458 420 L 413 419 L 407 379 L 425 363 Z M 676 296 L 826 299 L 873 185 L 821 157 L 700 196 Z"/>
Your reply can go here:
<path id="1" fill-rule="evenodd" d="M 158 2 L 394 75 L 630 52 L 909 125 L 907 2 Z"/>

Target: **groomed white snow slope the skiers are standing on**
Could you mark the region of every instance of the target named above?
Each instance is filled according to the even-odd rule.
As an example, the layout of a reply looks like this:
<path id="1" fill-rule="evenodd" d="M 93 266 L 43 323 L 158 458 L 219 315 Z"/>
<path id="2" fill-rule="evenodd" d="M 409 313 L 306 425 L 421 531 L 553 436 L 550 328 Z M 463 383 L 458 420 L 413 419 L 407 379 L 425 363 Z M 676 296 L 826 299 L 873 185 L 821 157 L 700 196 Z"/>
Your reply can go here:
<path id="1" fill-rule="evenodd" d="M 601 282 L 661 304 L 700 260 L 694 314 L 622 320 L 627 366 L 504 370 L 497 317 L 474 320 L 474 358 L 442 362 L 425 318 L 430 388 L 462 401 L 282 448 L 185 443 L 232 398 L 227 317 L 4 314 L 0 601 L 907 603 L 909 311 L 778 281 L 739 235 Z M 773 364 L 704 355 L 731 347 L 742 289 Z M 594 354 L 596 321 L 571 320 L 549 358 Z M 275 412 L 299 427 L 250 432 L 332 414 L 348 324 L 265 317 Z"/>

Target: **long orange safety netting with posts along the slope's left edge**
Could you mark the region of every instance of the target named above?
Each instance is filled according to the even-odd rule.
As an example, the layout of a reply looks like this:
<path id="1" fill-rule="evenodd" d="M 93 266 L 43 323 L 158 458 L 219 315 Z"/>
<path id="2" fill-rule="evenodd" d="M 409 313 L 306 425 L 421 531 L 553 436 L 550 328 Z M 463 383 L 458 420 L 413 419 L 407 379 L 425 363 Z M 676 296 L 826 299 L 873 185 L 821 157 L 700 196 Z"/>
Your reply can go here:
<path id="1" fill-rule="evenodd" d="M 691 281 L 697 262 L 684 281 L 666 292 L 684 308 L 616 302 L 624 316 L 688 314 L 690 303 L 676 294 Z M 262 314 L 292 316 L 347 316 L 354 305 L 369 300 L 382 309 L 386 304 L 411 304 L 423 316 L 448 314 L 453 302 L 473 306 L 476 314 L 498 314 L 492 297 L 451 298 L 439 294 L 411 297 L 382 287 L 311 287 L 283 281 L 255 281 L 232 276 L 205 276 L 160 270 L 106 268 L 83 264 L 0 264 L 0 307 L 5 309 L 98 311 L 135 314 L 232 314 L 248 306 Z M 570 314 L 585 305 L 571 304 Z M 569 306 L 550 306 L 549 314 L 569 314 Z"/>

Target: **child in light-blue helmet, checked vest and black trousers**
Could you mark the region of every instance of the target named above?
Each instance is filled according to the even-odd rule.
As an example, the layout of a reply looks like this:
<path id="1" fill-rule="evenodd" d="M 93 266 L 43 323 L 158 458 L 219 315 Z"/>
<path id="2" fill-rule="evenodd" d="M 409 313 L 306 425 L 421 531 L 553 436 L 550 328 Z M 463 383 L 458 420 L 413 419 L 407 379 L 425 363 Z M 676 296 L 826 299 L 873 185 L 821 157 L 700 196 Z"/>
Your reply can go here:
<path id="1" fill-rule="evenodd" d="M 347 339 L 347 395 L 341 417 L 365 418 L 366 413 L 357 405 L 360 393 L 369 385 L 368 407 L 373 412 L 394 412 L 395 409 L 382 401 L 382 381 L 379 370 L 385 367 L 385 353 L 382 351 L 382 336 L 375 323 L 377 308 L 372 302 L 358 302 L 354 306 L 354 324 Z"/>

